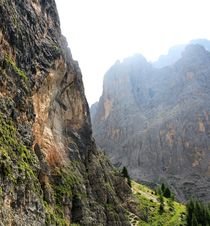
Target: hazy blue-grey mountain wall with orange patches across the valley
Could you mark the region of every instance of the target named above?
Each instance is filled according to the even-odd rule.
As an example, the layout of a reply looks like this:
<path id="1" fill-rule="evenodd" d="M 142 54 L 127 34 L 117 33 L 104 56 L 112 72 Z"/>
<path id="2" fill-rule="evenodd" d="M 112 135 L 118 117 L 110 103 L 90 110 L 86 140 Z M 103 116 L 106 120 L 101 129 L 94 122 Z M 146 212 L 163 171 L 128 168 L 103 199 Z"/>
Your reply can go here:
<path id="1" fill-rule="evenodd" d="M 125 59 L 106 73 L 91 110 L 96 142 L 133 178 L 168 183 L 180 200 L 210 200 L 209 95 L 210 53 L 200 45 L 162 69 Z"/>

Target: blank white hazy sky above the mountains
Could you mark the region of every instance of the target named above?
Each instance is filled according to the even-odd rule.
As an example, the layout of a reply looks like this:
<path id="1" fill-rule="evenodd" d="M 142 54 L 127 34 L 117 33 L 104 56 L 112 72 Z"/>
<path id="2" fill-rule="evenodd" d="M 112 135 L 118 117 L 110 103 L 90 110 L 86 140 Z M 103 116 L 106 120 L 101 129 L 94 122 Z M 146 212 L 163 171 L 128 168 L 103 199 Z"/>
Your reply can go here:
<path id="1" fill-rule="evenodd" d="M 63 34 L 79 61 L 89 104 L 105 72 L 135 53 L 148 61 L 175 44 L 210 38 L 210 0 L 56 0 Z"/>

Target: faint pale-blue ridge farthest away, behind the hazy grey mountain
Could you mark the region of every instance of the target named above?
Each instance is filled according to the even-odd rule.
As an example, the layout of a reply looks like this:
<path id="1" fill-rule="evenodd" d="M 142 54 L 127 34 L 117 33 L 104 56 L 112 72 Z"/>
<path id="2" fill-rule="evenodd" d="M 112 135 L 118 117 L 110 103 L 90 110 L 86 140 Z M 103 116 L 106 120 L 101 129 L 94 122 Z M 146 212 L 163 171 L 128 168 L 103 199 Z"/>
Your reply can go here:
<path id="1" fill-rule="evenodd" d="M 207 39 L 195 39 L 189 42 L 189 44 L 199 44 L 202 45 L 207 51 L 210 51 L 210 41 Z M 176 45 L 169 49 L 167 55 L 161 55 L 157 61 L 153 63 L 156 68 L 166 67 L 174 64 L 182 56 L 187 44 Z"/>

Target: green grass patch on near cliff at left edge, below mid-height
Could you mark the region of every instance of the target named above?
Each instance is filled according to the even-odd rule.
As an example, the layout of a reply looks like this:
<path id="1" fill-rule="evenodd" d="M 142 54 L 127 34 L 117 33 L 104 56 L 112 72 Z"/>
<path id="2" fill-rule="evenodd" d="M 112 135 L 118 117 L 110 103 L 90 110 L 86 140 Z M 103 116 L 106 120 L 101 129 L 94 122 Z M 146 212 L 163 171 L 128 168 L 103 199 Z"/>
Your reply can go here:
<path id="1" fill-rule="evenodd" d="M 17 182 L 15 175 L 24 174 L 35 178 L 33 168 L 34 156 L 18 137 L 12 120 L 4 119 L 0 114 L 0 169 L 3 178 Z"/>

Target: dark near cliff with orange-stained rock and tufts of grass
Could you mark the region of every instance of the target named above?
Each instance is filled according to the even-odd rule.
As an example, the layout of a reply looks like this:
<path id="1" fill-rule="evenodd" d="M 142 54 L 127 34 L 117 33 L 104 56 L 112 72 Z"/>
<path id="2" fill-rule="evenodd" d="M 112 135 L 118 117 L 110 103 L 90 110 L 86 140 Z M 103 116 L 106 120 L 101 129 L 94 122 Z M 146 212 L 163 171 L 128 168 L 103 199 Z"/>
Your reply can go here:
<path id="1" fill-rule="evenodd" d="M 54 0 L 0 0 L 0 204 L 2 225 L 130 225 Z"/>

